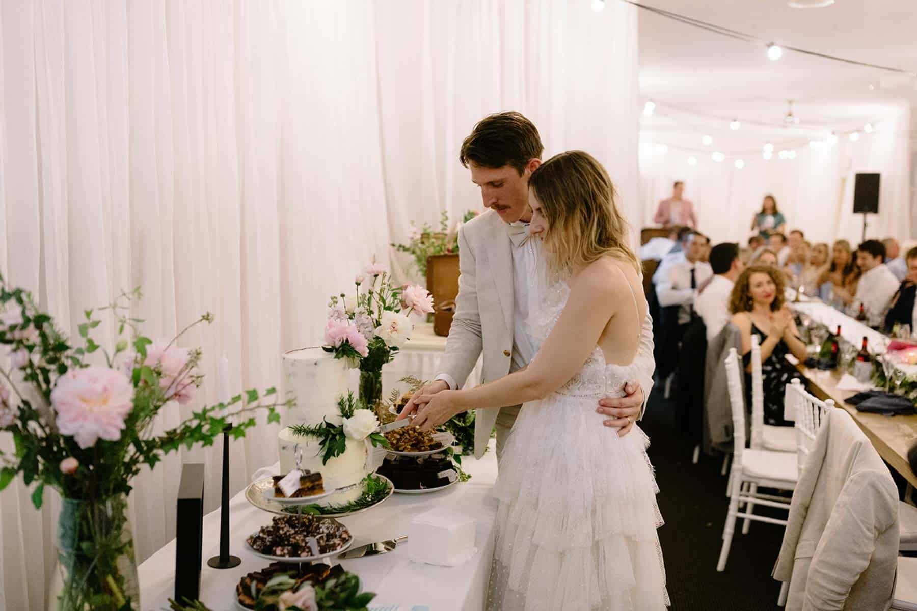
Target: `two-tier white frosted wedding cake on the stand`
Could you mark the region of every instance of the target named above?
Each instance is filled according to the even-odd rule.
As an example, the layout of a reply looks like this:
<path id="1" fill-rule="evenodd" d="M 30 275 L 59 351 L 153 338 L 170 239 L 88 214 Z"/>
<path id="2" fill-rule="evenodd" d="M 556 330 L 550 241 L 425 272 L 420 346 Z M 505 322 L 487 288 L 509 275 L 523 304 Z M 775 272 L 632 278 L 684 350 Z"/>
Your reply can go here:
<path id="1" fill-rule="evenodd" d="M 327 422 L 340 426 L 343 418 L 337 407 L 341 397 L 348 394 L 348 366 L 344 359 L 336 359 L 321 348 L 303 348 L 283 355 L 283 374 L 286 389 L 293 392 L 296 407 L 290 411 L 290 425 L 317 426 Z M 297 467 L 296 446 L 302 451 L 299 468 L 322 474 L 325 489 L 342 488 L 358 484 L 367 470 L 366 443 L 347 439 L 344 453 L 322 464 L 321 440 L 312 435 L 297 435 L 287 427 L 278 434 L 281 474 Z M 356 500 L 362 492 L 360 486 L 326 496 L 317 501 L 320 505 L 337 505 Z"/>

